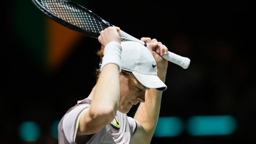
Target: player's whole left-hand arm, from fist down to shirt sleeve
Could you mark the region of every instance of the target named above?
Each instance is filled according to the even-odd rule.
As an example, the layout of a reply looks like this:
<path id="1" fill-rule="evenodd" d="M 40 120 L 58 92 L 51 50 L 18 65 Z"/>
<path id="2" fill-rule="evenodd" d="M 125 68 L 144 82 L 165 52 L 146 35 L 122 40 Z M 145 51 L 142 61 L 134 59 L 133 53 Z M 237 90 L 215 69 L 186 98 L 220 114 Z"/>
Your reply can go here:
<path id="1" fill-rule="evenodd" d="M 85 111 L 79 121 L 78 135 L 88 135 L 98 132 L 109 124 L 115 117 L 119 105 L 119 70 L 120 67 L 115 63 L 106 63 L 111 57 L 115 57 L 117 50 L 121 51 L 120 36 L 118 27 L 108 27 L 100 33 L 99 42 L 105 47 L 102 61 L 101 73 L 93 89 L 94 95 L 91 107 Z M 113 41 L 115 43 L 113 43 Z M 112 44 L 111 44 L 112 43 Z M 118 44 L 119 43 L 119 44 Z M 111 45 L 110 45 L 111 44 Z M 120 47 L 119 47 L 120 46 Z M 108 49 L 108 53 L 105 51 Z M 119 56 L 117 56 L 118 59 Z M 120 53 L 121 57 L 121 53 Z M 115 59 L 112 61 L 115 61 Z M 103 64 L 105 62 L 105 64 Z"/>

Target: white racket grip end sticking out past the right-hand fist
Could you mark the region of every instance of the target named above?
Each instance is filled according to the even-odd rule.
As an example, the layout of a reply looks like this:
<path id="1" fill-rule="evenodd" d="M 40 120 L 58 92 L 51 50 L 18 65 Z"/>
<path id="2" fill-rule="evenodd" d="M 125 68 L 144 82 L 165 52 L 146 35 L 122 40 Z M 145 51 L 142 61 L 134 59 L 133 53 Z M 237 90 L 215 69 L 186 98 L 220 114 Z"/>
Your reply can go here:
<path id="1" fill-rule="evenodd" d="M 168 55 L 164 55 L 164 56 L 162 56 L 162 58 L 164 58 L 172 63 L 175 63 L 184 69 L 187 69 L 190 64 L 189 58 L 179 56 L 179 55 L 169 52 L 169 51 L 168 51 Z"/>

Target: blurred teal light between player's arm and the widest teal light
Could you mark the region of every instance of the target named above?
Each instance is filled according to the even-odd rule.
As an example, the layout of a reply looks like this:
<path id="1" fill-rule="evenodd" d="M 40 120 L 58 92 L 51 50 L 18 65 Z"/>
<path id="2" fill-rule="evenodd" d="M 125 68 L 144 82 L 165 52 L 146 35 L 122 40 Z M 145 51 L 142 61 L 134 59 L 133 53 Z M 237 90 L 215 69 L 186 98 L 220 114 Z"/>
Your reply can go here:
<path id="1" fill-rule="evenodd" d="M 155 137 L 175 137 L 182 133 L 183 122 L 178 117 L 159 117 Z"/>

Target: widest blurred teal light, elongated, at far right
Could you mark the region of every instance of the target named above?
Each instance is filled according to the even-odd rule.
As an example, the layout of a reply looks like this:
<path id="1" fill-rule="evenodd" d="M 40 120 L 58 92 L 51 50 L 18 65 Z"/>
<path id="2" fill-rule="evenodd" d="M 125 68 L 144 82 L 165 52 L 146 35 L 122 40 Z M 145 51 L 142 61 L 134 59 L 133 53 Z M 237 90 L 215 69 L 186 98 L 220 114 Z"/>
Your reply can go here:
<path id="1" fill-rule="evenodd" d="M 188 120 L 188 133 L 193 136 L 230 135 L 237 127 L 236 120 L 225 116 L 193 116 Z"/>

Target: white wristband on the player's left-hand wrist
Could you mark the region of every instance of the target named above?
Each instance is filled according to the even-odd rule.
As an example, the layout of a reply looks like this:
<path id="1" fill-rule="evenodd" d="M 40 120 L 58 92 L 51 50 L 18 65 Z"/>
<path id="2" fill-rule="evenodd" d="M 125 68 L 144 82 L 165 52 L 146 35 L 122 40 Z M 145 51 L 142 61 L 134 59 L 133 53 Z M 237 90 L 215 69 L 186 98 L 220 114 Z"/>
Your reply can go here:
<path id="1" fill-rule="evenodd" d="M 119 72 L 121 71 L 121 52 L 122 46 L 120 43 L 111 41 L 104 47 L 102 64 L 100 71 L 106 64 L 113 63 L 118 66 Z"/>

